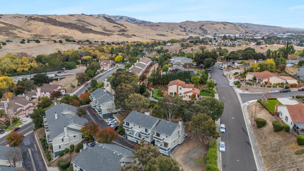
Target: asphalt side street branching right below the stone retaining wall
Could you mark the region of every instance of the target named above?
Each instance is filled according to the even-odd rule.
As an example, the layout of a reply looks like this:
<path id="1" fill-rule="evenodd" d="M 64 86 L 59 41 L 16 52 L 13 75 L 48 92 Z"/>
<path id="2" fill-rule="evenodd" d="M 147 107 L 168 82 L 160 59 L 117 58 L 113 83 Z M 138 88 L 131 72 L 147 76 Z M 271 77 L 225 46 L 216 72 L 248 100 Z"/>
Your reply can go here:
<path id="1" fill-rule="evenodd" d="M 304 91 L 291 91 L 285 93 L 274 93 L 271 94 L 274 98 L 290 97 L 296 95 L 304 95 Z M 245 103 L 250 100 L 262 99 L 263 93 L 240 93 L 242 102 Z"/>

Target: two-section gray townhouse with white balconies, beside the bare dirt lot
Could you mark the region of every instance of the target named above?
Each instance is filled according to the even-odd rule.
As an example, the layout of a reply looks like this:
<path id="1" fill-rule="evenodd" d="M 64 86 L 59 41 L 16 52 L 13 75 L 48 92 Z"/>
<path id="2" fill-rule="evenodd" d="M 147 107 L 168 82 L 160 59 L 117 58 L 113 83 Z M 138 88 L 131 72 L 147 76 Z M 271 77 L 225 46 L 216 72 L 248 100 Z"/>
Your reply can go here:
<path id="1" fill-rule="evenodd" d="M 124 119 L 125 138 L 140 144 L 140 141 L 149 142 L 158 147 L 159 151 L 167 156 L 187 138 L 182 121 L 178 124 L 163 119 L 131 111 Z"/>

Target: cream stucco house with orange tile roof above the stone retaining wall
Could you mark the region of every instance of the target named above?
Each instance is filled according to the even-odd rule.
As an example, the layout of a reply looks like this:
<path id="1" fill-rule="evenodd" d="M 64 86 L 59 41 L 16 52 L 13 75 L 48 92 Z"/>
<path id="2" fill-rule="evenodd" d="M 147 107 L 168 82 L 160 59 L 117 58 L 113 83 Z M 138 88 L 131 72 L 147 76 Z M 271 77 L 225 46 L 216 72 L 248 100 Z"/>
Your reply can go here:
<path id="1" fill-rule="evenodd" d="M 257 83 L 265 84 L 267 82 L 267 85 L 276 83 L 298 84 L 297 80 L 292 77 L 278 76 L 269 71 L 247 72 L 246 80 L 254 80 L 254 78 L 257 80 Z"/>

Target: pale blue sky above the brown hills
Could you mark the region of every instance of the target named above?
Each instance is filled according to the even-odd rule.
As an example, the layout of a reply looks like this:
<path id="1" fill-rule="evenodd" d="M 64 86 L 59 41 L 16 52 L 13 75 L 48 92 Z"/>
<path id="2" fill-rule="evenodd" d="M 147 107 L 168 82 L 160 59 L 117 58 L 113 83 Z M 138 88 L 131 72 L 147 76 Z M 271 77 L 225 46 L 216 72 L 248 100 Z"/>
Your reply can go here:
<path id="1" fill-rule="evenodd" d="M 304 28 L 302 0 L 4 0 L 0 13 L 108 14 L 150 22 L 226 21 Z"/>

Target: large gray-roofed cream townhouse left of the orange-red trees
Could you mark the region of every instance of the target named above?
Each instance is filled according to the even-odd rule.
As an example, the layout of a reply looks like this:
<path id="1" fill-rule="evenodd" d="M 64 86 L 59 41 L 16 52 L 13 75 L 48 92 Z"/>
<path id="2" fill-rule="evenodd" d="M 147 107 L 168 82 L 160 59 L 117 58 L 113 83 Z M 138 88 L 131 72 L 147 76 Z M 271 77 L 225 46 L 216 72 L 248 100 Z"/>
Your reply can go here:
<path id="1" fill-rule="evenodd" d="M 59 156 L 65 148 L 77 145 L 81 142 L 82 133 L 80 129 L 88 122 L 86 118 L 77 116 L 77 107 L 69 104 L 56 104 L 45 111 L 43 116 L 47 143 L 52 143 L 54 156 Z"/>

